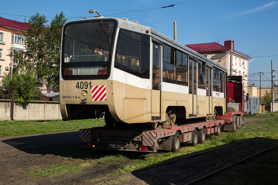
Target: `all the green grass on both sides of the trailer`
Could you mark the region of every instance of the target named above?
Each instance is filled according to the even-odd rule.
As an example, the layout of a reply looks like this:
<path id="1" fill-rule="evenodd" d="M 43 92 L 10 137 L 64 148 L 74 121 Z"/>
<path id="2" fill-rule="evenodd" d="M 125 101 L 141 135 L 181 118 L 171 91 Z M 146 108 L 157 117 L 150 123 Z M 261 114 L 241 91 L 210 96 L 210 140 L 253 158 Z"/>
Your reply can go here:
<path id="1" fill-rule="evenodd" d="M 271 113 L 268 113 L 268 116 L 269 115 L 271 115 Z M 278 116 L 278 112 L 274 114 L 272 113 L 272 115 L 276 117 Z M 259 114 L 259 116 L 262 115 Z M 80 128 L 104 126 L 104 124 L 104 121 L 101 120 L 60 120 L 49 122 L 0 121 L 0 136 L 3 137 L 25 134 L 75 131 L 79 130 Z M 87 180 L 88 182 L 93 182 L 120 173 L 141 169 L 143 167 L 151 166 L 153 164 L 171 160 L 173 158 L 179 158 L 186 154 L 201 152 L 214 147 L 229 145 L 246 139 L 252 140 L 253 138 L 261 136 L 261 134 L 263 135 L 263 138 L 260 138 L 261 140 L 277 140 L 278 119 L 256 121 L 252 124 L 249 123 L 244 125 L 243 129 L 238 129 L 236 132 L 220 132 L 220 136 L 209 135 L 205 143 L 194 147 L 181 147 L 180 151 L 177 153 L 171 151 L 164 151 L 163 153 L 140 153 L 109 150 L 92 153 L 88 149 L 84 148 L 68 148 L 67 150 L 63 151 L 64 153 L 59 153 L 58 155 L 70 157 L 63 157 L 60 161 L 54 162 L 52 164 L 33 166 L 28 170 L 31 171 L 28 174 L 28 177 L 32 179 L 42 179 L 62 174 L 77 173 L 86 169 L 91 170 L 91 173 L 98 174 L 100 172 L 96 171 L 95 166 L 114 166 L 113 171 L 107 170 L 105 171 L 105 174 L 98 174 L 96 179 Z M 277 157 L 274 158 L 274 162 L 275 161 L 276 163 L 273 164 L 278 164 Z M 262 167 L 264 162 L 253 165 L 254 166 L 249 166 L 249 168 L 256 168 L 256 165 L 258 165 L 258 168 Z M 277 171 L 277 166 L 271 167 L 271 169 L 275 168 Z M 249 171 L 248 173 L 252 173 L 252 171 Z M 247 176 L 247 174 L 245 176 Z M 232 177 L 233 176 L 231 176 L 231 178 Z"/>

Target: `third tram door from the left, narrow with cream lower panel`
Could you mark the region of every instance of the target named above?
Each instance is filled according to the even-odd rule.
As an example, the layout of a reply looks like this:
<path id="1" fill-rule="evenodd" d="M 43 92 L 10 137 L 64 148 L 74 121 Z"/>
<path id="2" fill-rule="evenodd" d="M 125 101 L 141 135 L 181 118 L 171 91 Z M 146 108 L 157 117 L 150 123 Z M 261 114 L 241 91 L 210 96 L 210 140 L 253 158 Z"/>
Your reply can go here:
<path id="1" fill-rule="evenodd" d="M 206 64 L 206 110 L 212 115 L 212 66 Z"/>

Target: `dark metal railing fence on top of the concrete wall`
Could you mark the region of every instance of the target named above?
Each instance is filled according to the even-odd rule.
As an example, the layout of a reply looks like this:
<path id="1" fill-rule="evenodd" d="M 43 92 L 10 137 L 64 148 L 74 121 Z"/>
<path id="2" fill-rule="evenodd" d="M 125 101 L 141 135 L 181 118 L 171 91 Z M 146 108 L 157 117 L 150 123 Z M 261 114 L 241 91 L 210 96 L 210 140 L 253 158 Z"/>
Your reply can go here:
<path id="1" fill-rule="evenodd" d="M 59 90 L 36 88 L 32 92 L 31 101 L 60 101 Z M 16 88 L 0 87 L 0 99 L 17 99 L 19 96 Z"/>

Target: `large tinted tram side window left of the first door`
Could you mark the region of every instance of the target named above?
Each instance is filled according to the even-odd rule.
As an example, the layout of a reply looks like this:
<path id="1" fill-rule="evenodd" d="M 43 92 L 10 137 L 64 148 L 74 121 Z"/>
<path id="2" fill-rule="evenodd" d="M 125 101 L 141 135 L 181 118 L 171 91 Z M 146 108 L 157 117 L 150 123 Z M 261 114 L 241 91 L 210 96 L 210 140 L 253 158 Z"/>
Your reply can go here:
<path id="1" fill-rule="evenodd" d="M 150 78 L 150 37 L 120 29 L 115 67 L 140 78 Z"/>

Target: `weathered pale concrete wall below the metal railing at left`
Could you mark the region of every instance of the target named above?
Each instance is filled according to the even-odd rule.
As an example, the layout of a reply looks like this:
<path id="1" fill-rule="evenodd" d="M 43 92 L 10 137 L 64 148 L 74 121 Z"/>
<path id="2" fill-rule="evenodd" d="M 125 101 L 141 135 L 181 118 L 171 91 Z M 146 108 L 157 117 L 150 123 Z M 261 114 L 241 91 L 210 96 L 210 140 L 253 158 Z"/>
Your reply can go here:
<path id="1" fill-rule="evenodd" d="M 13 110 L 13 112 L 12 112 Z M 57 120 L 62 119 L 60 102 L 58 101 L 31 101 L 17 103 L 12 100 L 0 100 L 0 120 Z"/>

